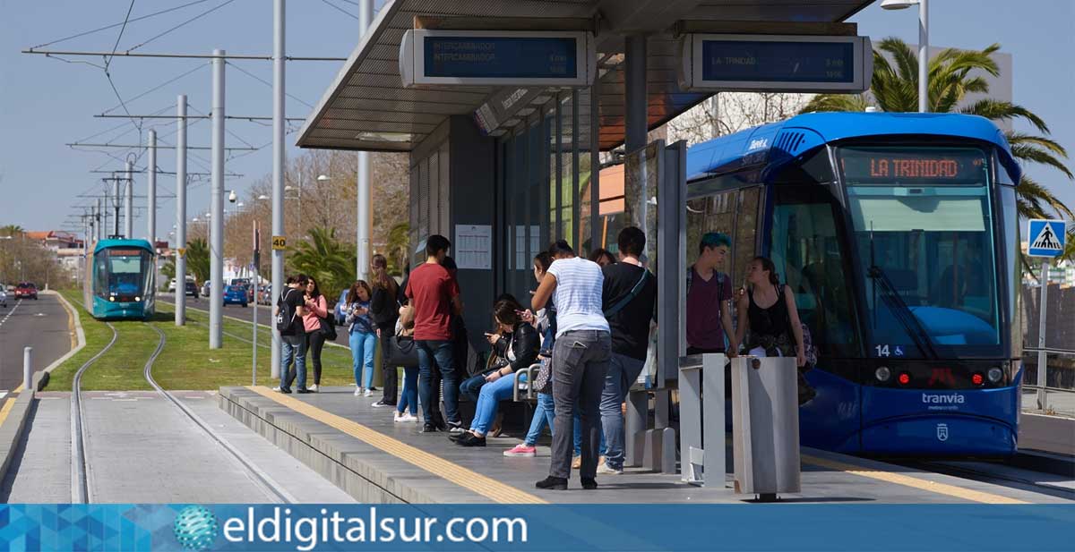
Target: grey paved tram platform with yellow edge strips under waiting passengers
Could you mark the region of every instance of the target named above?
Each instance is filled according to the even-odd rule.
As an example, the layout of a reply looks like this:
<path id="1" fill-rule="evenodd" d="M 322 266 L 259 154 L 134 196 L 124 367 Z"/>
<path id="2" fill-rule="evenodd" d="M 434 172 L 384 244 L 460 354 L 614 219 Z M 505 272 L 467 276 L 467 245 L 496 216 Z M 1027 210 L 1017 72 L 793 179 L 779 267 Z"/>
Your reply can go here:
<path id="1" fill-rule="evenodd" d="M 577 473 L 568 491 L 543 491 L 549 449 L 536 457 L 505 457 L 520 436 L 490 438 L 486 448 L 462 448 L 446 433 L 419 433 L 419 424 L 395 423 L 391 410 L 373 408 L 377 397 L 356 397 L 354 388 L 325 388 L 306 395 L 263 387 L 221 388 L 220 407 L 281 449 L 363 503 L 742 503 L 751 495 L 730 488 L 686 484 L 678 475 L 628 468 L 599 476 L 597 491 L 580 489 Z M 541 445 L 541 444 L 539 444 Z M 793 503 L 1064 503 L 1061 498 L 803 449 L 802 493 Z M 731 463 L 729 462 L 729 466 Z"/>

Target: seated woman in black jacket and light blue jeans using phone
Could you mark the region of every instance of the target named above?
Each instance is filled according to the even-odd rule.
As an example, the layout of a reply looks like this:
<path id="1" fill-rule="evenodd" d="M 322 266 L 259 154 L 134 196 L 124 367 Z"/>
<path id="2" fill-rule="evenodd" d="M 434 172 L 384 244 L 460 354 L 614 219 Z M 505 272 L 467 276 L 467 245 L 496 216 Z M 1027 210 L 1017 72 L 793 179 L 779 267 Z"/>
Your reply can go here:
<path id="1" fill-rule="evenodd" d="M 529 367 L 538 360 L 538 330 L 519 317 L 521 307 L 514 301 L 501 301 L 492 307 L 499 333 L 489 336 L 489 343 L 497 353 L 507 360 L 507 365 L 485 375 L 486 383 L 477 397 L 474 420 L 469 432 L 463 433 L 456 444 L 461 447 L 485 447 L 485 435 L 497 417 L 501 401 L 512 396 L 515 374 L 519 368 Z M 524 381 L 525 377 L 520 377 Z"/>

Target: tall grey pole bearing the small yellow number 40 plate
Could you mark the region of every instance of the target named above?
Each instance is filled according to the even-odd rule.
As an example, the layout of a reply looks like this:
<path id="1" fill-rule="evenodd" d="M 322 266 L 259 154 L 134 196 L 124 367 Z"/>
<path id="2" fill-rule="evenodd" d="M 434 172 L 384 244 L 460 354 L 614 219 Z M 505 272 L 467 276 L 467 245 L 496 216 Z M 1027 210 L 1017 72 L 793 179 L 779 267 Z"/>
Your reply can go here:
<path id="1" fill-rule="evenodd" d="M 272 84 L 272 243 L 284 237 L 284 0 L 273 1 Z M 272 296 L 284 289 L 284 250 L 272 248 Z M 280 377 L 280 332 L 272 324 L 272 377 Z"/>

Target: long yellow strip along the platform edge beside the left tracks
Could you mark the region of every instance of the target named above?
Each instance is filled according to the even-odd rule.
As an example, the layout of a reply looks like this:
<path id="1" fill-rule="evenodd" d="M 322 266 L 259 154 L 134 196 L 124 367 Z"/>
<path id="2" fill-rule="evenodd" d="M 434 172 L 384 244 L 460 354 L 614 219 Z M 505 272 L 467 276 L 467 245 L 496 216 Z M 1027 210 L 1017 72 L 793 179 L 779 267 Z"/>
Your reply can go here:
<path id="1" fill-rule="evenodd" d="M 469 491 L 473 491 L 486 498 L 501 504 L 548 504 L 530 493 L 515 489 L 497 481 L 476 471 L 467 469 L 458 464 L 448 462 L 435 454 L 430 454 L 421 449 L 412 447 L 403 441 L 389 437 L 381 432 L 371 430 L 360 423 L 353 422 L 341 416 L 321 410 L 315 406 L 303 403 L 297 398 L 282 395 L 271 391 L 264 386 L 246 386 L 246 389 L 255 393 L 275 401 L 291 410 L 305 415 L 321 423 L 340 430 L 352 437 L 401 459 L 414 466 L 417 466 L 434 476 L 441 477 Z"/>

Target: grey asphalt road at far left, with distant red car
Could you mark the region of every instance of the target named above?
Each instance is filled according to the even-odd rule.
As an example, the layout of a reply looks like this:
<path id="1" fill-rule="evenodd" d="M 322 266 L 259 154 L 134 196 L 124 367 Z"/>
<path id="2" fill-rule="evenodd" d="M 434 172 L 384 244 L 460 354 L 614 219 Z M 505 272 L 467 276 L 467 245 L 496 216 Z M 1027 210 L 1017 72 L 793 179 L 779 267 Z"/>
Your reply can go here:
<path id="1" fill-rule="evenodd" d="M 9 296 L 8 308 L 0 307 L 0 390 L 13 390 L 23 382 L 24 347 L 33 347 L 34 372 L 71 350 L 67 309 L 52 293 L 38 297 Z"/>

